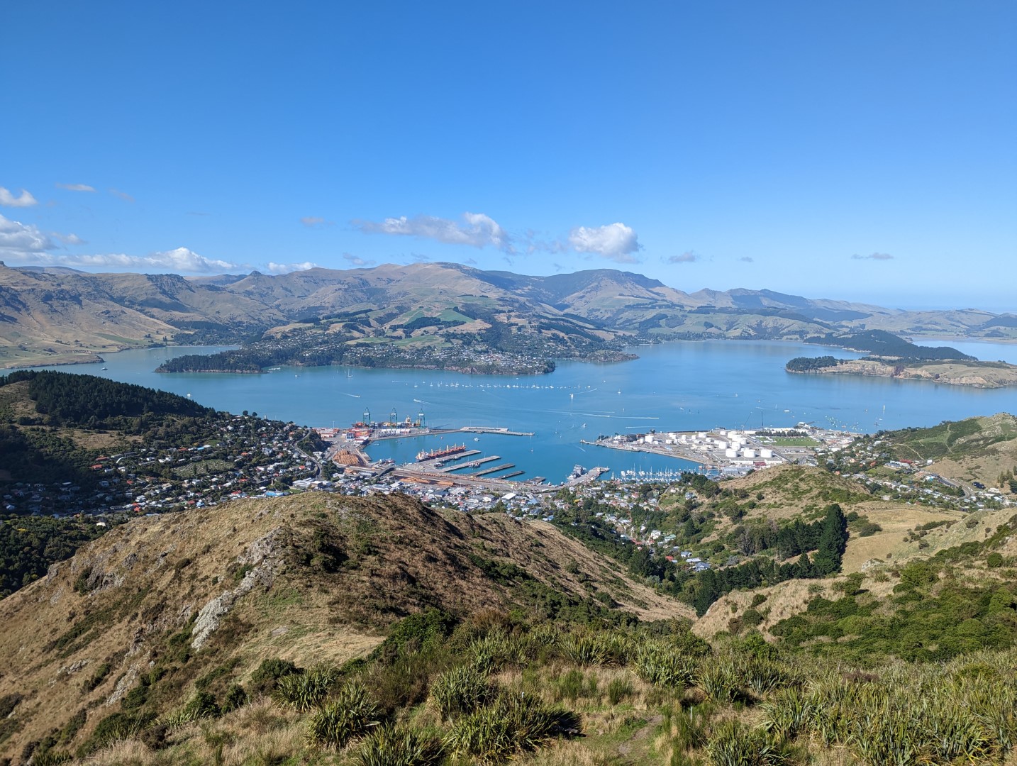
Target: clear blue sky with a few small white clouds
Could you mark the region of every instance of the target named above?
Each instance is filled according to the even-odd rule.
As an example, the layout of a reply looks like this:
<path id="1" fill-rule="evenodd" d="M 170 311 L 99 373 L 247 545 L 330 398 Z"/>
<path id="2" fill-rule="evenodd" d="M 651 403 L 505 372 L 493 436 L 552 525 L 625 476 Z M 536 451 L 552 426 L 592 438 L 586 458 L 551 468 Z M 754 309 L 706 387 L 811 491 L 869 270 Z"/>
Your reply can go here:
<path id="1" fill-rule="evenodd" d="M 452 260 L 1017 310 L 1017 4 L 47 2 L 0 259 Z"/>

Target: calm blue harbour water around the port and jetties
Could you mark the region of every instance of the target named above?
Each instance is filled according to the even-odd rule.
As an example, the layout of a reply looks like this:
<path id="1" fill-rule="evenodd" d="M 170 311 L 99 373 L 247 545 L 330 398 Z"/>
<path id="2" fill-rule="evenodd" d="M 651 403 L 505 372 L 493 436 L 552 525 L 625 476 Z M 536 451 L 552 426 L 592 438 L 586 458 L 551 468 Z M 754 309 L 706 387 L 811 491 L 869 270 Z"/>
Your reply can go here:
<path id="1" fill-rule="evenodd" d="M 956 343 L 950 345 L 958 346 Z M 959 346 L 958 346 L 959 347 Z M 282 367 L 265 374 L 156 373 L 167 357 L 223 347 L 159 348 L 109 354 L 106 361 L 58 367 L 190 396 L 210 407 L 271 418 L 345 426 L 365 409 L 375 419 L 423 412 L 432 426 L 504 426 L 534 436 L 447 434 L 394 439 L 372 458 L 411 462 L 422 449 L 467 441 L 526 473 L 561 481 L 577 463 L 622 470 L 677 469 L 690 464 L 584 446 L 582 439 L 634 431 L 754 428 L 811 422 L 848 430 L 935 425 L 995 412 L 1017 413 L 1017 389 L 980 390 L 921 380 L 784 371 L 795 356 L 842 349 L 766 341 L 669 343 L 639 347 L 640 358 L 614 364 L 562 361 L 547 375 L 506 377 L 439 370 Z M 971 350 L 968 350 L 968 349 Z M 1017 346 L 977 343 L 980 359 L 1014 360 Z M 102 369 L 106 367 L 106 369 Z M 610 472 L 606 474 L 610 475 Z"/>

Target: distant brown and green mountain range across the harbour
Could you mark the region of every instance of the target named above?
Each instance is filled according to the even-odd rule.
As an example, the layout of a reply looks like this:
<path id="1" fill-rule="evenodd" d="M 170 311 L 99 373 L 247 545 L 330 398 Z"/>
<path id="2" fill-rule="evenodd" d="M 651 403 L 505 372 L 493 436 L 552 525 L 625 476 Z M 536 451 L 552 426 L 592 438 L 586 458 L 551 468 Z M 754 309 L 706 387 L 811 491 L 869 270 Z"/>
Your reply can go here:
<path id="1" fill-rule="evenodd" d="M 906 311 L 770 290 L 686 293 L 612 269 L 530 277 L 413 263 L 181 277 L 0 264 L 0 366 L 92 360 L 163 342 L 237 343 L 302 320 L 312 326 L 355 314 L 361 320 L 354 341 L 371 336 L 411 344 L 434 335 L 459 343 L 464 334 L 498 325 L 510 334 L 564 339 L 565 346 L 589 337 L 803 340 L 865 330 L 1017 338 L 1017 315 L 1010 313 Z M 330 328 L 337 329 L 333 322 L 322 331 Z"/>

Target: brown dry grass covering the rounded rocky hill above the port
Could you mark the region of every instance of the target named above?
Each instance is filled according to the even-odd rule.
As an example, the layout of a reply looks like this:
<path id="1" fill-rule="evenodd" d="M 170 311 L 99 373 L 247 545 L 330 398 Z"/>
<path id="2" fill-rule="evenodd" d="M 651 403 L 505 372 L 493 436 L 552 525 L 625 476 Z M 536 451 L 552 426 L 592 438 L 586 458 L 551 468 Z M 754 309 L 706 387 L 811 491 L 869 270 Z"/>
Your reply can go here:
<path id="1" fill-rule="evenodd" d="M 312 562 L 320 530 L 349 556 L 336 572 Z M 689 613 L 547 525 L 439 514 L 404 496 L 309 493 L 135 519 L 0 601 L 0 696 L 25 697 L 15 710 L 22 728 L 0 746 L 0 756 L 15 755 L 91 706 L 70 747 L 83 742 L 120 709 L 120 696 L 166 651 L 168 637 L 237 587 L 238 555 L 270 535 L 278 559 L 271 585 L 236 601 L 177 671 L 178 691 L 167 692 L 177 696 L 164 705 L 182 704 L 193 681 L 217 666 L 236 662 L 230 677 L 245 682 L 270 657 L 302 666 L 340 664 L 369 653 L 385 626 L 426 606 L 459 613 L 507 606 L 510 592 L 482 574 L 472 553 L 516 563 L 576 596 L 588 596 L 587 586 L 602 588 L 648 618 Z M 570 559 L 589 576 L 587 583 L 564 572 Z M 89 571 L 101 587 L 82 595 L 75 584 Z M 103 662 L 112 664 L 109 675 L 82 691 Z"/>

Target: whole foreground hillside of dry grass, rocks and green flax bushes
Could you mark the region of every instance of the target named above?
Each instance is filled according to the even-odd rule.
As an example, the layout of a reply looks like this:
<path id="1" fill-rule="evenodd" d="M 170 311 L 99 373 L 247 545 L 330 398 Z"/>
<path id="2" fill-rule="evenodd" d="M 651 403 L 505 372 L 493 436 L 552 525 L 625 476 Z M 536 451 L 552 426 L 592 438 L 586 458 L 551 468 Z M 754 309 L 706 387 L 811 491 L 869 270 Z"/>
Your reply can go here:
<path id="1" fill-rule="evenodd" d="M 0 602 L 0 748 L 94 764 L 1000 762 L 1017 735 L 1010 538 L 777 586 L 807 602 L 776 643 L 754 630 L 776 591 L 737 594 L 752 605 L 715 604 L 707 620 L 729 617 L 706 643 L 548 525 L 321 494 L 138 519 Z M 629 601 L 589 598 L 601 589 Z"/>

